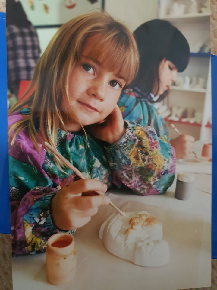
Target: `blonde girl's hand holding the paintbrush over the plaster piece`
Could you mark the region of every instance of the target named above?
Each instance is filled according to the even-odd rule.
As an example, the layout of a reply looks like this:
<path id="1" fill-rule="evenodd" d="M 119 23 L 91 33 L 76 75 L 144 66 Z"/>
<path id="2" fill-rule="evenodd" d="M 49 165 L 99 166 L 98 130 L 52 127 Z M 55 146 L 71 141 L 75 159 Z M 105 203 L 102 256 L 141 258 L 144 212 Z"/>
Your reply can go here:
<path id="1" fill-rule="evenodd" d="M 71 230 L 87 224 L 100 205 L 109 204 L 106 190 L 107 186 L 95 179 L 81 179 L 63 187 L 51 201 L 55 226 Z"/>

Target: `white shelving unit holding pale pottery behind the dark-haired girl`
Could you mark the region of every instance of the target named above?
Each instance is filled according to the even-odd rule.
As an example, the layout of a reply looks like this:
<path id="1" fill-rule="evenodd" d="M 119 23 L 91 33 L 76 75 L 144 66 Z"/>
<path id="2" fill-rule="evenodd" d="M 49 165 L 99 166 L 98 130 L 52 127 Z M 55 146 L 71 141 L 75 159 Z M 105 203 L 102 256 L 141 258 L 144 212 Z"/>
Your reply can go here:
<path id="1" fill-rule="evenodd" d="M 198 1 L 198 0 L 196 0 Z M 205 0 L 202 0 L 205 2 Z M 200 1 L 201 2 L 201 1 Z M 184 14 L 175 16 L 169 14 L 174 3 L 184 4 Z M 198 3 L 199 4 L 199 3 Z M 211 69 L 210 69 L 210 53 L 195 52 L 195 44 L 208 44 L 210 41 L 210 13 L 188 13 L 192 2 L 189 0 L 159 0 L 159 18 L 168 20 L 175 25 L 186 37 L 190 50 L 190 60 L 186 70 L 178 73 L 178 77 L 188 76 L 201 77 L 206 80 L 204 88 L 184 86 L 171 86 L 169 92 L 170 107 L 193 108 L 198 114 L 203 116 L 201 124 L 173 121 L 176 127 L 183 134 L 190 134 L 196 140 L 211 140 L 212 125 L 209 123 L 211 119 Z M 165 118 L 166 122 L 169 122 Z M 177 137 L 177 134 L 168 124 L 171 138 Z"/>

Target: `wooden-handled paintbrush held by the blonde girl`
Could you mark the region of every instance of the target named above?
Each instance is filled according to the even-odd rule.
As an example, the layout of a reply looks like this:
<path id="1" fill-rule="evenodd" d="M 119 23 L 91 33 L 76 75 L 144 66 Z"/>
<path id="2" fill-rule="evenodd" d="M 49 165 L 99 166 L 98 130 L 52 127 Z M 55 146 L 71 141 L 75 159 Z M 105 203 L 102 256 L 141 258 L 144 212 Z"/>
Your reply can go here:
<path id="1" fill-rule="evenodd" d="M 77 176 L 79 176 L 81 179 L 86 179 L 85 176 L 74 166 L 72 165 L 64 156 L 62 156 L 56 148 L 52 147 L 49 143 L 46 141 L 43 142 L 43 146 L 47 149 L 50 150 L 54 155 L 56 155 L 64 164 L 66 167 L 71 169 Z M 113 208 L 115 208 L 120 215 L 126 216 L 124 211 L 121 211 L 112 201 L 109 203 Z"/>

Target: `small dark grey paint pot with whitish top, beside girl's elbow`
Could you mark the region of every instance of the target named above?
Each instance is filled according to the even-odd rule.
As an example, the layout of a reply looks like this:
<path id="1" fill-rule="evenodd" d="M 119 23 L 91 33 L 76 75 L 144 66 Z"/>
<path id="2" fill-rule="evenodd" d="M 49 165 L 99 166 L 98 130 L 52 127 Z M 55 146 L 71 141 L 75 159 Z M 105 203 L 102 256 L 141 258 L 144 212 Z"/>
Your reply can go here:
<path id="1" fill-rule="evenodd" d="M 191 196 L 193 188 L 194 174 L 192 172 L 182 172 L 177 174 L 175 198 L 187 200 Z"/>

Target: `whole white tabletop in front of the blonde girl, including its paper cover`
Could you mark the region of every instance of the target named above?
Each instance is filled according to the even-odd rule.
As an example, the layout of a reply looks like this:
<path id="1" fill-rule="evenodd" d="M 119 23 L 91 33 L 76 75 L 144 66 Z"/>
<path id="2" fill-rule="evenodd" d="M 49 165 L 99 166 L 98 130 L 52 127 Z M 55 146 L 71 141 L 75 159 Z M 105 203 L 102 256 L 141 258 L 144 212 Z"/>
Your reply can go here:
<path id="1" fill-rule="evenodd" d="M 206 186 L 207 185 L 207 186 Z M 105 250 L 102 241 L 98 238 L 99 227 L 108 214 L 114 213 L 110 206 L 102 206 L 99 212 L 91 219 L 90 223 L 78 229 L 74 235 L 77 246 L 77 272 L 74 279 L 63 285 L 54 286 L 46 282 L 46 256 L 39 254 L 34 256 L 14 257 L 12 259 L 13 289 L 14 290 L 141 290 L 158 289 L 174 290 L 180 288 L 197 288 L 211 285 L 211 175 L 196 174 L 195 186 L 192 196 L 187 201 L 174 198 L 175 182 L 165 195 L 136 196 L 129 193 L 114 192 L 112 200 L 121 205 L 122 202 L 133 200 L 140 202 L 138 210 L 142 206 L 150 208 L 150 212 L 161 218 L 164 239 L 168 241 L 171 250 L 171 260 L 168 265 L 157 268 L 146 268 L 120 259 Z M 207 188 L 207 190 L 206 190 Z M 115 198 L 116 199 L 115 201 Z M 126 206 L 135 208 L 133 202 Z M 124 207 L 124 205 L 121 205 Z M 122 208 L 124 210 L 124 208 Z M 157 211 L 156 211 L 157 209 Z M 110 211 L 110 212 L 108 212 Z M 177 222 L 177 227 L 169 228 L 166 223 Z M 179 218 L 177 218 L 177 216 Z M 189 218 L 188 218 L 189 217 Z M 185 223 L 182 224 L 181 221 Z M 202 222 L 202 223 L 201 223 Z M 193 240 L 186 237 L 188 226 L 194 225 L 198 231 L 192 233 Z M 186 233 L 185 233 L 186 226 Z M 169 229 L 169 230 L 168 230 Z M 176 235 L 180 235 L 180 244 Z M 183 239 L 183 241 L 182 241 Z M 174 243 L 176 241 L 176 243 Z M 175 248 L 177 247 L 177 248 Z M 185 248 L 184 248 L 185 247 Z M 185 249 L 184 251 L 182 250 Z M 186 256 L 187 255 L 187 256 Z M 188 259 L 192 256 L 192 259 Z M 190 267 L 190 261 L 192 267 Z M 190 267 L 190 269 L 188 269 Z M 177 269 L 177 270 L 176 270 Z M 181 270 L 180 270 L 181 269 Z"/>

